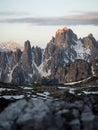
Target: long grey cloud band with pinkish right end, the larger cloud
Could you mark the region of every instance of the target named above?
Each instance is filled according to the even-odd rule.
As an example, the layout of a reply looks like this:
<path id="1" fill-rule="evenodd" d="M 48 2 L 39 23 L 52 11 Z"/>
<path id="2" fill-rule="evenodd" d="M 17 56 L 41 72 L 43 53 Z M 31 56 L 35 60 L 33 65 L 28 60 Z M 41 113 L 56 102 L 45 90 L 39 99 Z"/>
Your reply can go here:
<path id="1" fill-rule="evenodd" d="M 21 17 L 1 19 L 1 23 L 31 23 L 32 25 L 98 25 L 98 12 L 62 17 Z"/>

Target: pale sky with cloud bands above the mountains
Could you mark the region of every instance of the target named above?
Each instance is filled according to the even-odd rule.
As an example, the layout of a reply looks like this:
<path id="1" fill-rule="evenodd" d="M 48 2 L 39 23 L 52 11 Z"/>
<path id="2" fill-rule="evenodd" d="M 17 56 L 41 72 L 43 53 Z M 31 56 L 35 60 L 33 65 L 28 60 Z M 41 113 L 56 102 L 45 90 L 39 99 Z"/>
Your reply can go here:
<path id="1" fill-rule="evenodd" d="M 0 0 L 0 43 L 30 40 L 45 48 L 65 26 L 98 40 L 98 0 Z"/>

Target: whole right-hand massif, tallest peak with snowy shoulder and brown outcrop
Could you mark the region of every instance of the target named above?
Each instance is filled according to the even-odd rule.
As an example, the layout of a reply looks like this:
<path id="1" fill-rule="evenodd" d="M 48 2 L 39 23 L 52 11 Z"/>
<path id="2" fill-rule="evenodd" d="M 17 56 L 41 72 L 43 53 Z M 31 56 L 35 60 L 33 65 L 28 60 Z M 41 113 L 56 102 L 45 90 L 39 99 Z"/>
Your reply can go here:
<path id="1" fill-rule="evenodd" d="M 97 57 L 98 43 L 92 34 L 78 39 L 71 29 L 65 27 L 57 30 L 47 44 L 43 71 L 50 72 L 49 78 L 55 77 L 59 82 L 77 81 L 91 75 L 89 64 Z M 78 59 L 82 59 L 81 62 Z M 71 64 L 69 68 L 68 64 Z"/>

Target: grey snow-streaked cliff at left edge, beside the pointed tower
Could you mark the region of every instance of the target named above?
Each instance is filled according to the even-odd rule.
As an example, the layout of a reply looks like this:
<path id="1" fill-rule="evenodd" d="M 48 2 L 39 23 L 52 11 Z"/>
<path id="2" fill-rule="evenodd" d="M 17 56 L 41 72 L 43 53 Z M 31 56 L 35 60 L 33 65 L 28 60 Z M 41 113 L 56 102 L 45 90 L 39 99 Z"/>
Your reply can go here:
<path id="1" fill-rule="evenodd" d="M 0 52 L 0 80 L 3 82 L 11 82 L 12 73 L 17 66 L 21 57 L 21 51 L 16 52 Z"/>

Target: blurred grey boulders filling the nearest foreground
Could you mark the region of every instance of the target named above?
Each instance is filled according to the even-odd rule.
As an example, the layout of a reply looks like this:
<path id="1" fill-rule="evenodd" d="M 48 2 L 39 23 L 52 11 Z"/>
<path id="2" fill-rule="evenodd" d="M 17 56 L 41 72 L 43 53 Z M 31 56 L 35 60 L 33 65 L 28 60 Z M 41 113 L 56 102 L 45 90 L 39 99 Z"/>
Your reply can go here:
<path id="1" fill-rule="evenodd" d="M 98 95 L 82 98 L 18 100 L 0 113 L 0 130 L 98 130 Z"/>

